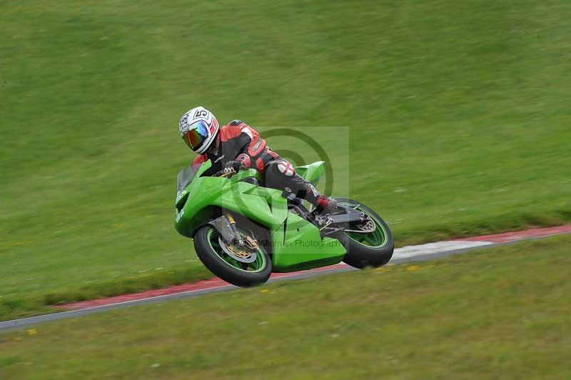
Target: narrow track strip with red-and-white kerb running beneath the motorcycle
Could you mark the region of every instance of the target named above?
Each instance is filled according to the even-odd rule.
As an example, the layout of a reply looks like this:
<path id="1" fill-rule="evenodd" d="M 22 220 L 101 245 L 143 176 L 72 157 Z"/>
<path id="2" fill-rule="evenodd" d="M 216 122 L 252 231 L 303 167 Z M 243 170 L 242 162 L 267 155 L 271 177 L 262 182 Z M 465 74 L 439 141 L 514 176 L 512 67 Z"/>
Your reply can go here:
<path id="1" fill-rule="evenodd" d="M 506 234 L 495 234 L 487 236 L 477 236 L 468 239 L 440 241 L 437 243 L 420 244 L 418 246 L 404 246 L 395 249 L 392 264 L 400 264 L 411 261 L 425 261 L 438 259 L 440 257 L 450 256 L 453 254 L 462 254 L 473 249 L 482 249 L 500 244 L 510 244 L 517 241 L 528 239 L 540 239 L 542 237 L 571 234 L 571 224 L 565 226 L 549 227 L 545 229 L 529 229 L 525 231 L 509 232 Z M 308 279 L 310 277 L 322 276 L 325 274 L 335 274 L 347 271 L 356 271 L 351 266 L 345 264 L 337 264 L 326 266 L 323 268 L 313 269 L 311 271 L 300 271 L 288 274 L 273 274 L 268 282 L 287 281 L 295 279 Z M 78 302 L 62 307 L 66 311 L 56 314 L 46 314 L 41 316 L 33 316 L 24 319 L 14 319 L 12 321 L 0 322 L 0 331 L 11 329 L 23 329 L 49 321 L 59 319 L 74 318 L 87 314 L 98 313 L 121 307 L 135 306 L 141 304 L 154 304 L 171 299 L 183 299 L 203 294 L 219 293 L 221 291 L 238 290 L 237 286 L 228 284 L 221 279 L 210 279 L 199 281 L 196 284 L 186 284 L 179 286 L 170 286 L 166 289 L 158 289 L 153 291 L 145 291 L 137 294 L 126 294 L 124 296 L 111 297 L 109 299 L 97 299 L 93 301 Z"/>

